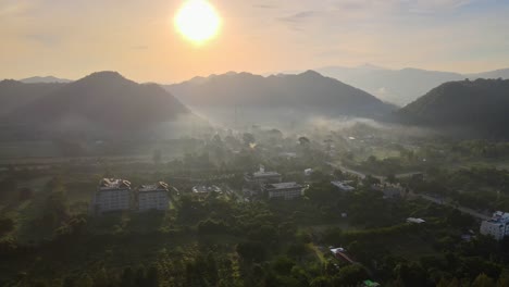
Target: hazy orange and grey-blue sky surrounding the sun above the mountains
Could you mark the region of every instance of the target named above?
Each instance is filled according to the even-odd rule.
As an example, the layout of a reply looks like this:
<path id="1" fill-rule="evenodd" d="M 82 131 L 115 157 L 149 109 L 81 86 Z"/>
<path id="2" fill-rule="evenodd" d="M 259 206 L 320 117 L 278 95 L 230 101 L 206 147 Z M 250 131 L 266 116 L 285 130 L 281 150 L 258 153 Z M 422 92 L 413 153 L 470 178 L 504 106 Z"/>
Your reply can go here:
<path id="1" fill-rule="evenodd" d="M 509 67 L 509 0 L 213 0 L 219 37 L 174 29 L 177 0 L 0 0 L 0 78 L 113 70 L 172 83 L 372 63 L 452 72 Z"/>

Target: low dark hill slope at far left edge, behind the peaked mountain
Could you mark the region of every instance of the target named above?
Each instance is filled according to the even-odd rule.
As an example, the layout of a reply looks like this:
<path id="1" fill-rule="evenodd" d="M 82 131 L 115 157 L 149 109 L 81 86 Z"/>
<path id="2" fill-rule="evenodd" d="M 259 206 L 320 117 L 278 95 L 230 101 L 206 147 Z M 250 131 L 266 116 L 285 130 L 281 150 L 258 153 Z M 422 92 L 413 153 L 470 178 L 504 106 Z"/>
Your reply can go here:
<path id="1" fill-rule="evenodd" d="M 13 112 L 63 87 L 65 84 L 24 84 L 13 79 L 0 82 L 0 115 Z"/>

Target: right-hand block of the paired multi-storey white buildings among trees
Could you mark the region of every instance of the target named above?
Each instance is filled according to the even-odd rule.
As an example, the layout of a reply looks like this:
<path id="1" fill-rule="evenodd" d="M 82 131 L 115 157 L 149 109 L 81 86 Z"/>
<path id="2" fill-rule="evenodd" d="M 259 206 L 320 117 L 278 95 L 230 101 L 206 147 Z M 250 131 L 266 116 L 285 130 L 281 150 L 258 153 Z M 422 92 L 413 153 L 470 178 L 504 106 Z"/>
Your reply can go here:
<path id="1" fill-rule="evenodd" d="M 138 188 L 138 211 L 167 210 L 170 207 L 169 186 L 163 182 Z"/>

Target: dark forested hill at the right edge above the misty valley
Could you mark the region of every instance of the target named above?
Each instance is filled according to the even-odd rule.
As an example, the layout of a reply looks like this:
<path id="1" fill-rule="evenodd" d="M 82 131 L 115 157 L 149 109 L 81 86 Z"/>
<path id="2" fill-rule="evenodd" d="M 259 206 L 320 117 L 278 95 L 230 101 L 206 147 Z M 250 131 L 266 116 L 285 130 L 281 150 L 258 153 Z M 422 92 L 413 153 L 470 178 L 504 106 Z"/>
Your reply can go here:
<path id="1" fill-rule="evenodd" d="M 509 136 L 509 80 L 446 83 L 408 104 L 396 116 L 408 124 Z"/>

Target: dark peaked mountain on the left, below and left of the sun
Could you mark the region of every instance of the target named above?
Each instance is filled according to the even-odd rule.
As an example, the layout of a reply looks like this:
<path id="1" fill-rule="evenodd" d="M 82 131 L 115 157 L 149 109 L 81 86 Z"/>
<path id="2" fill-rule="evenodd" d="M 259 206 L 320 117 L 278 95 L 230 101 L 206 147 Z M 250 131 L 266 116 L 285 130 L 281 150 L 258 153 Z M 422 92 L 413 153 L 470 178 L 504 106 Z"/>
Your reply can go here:
<path id="1" fill-rule="evenodd" d="M 100 72 L 40 97 L 8 118 L 45 130 L 136 133 L 189 113 L 156 84 L 139 85 L 119 73 Z"/>

